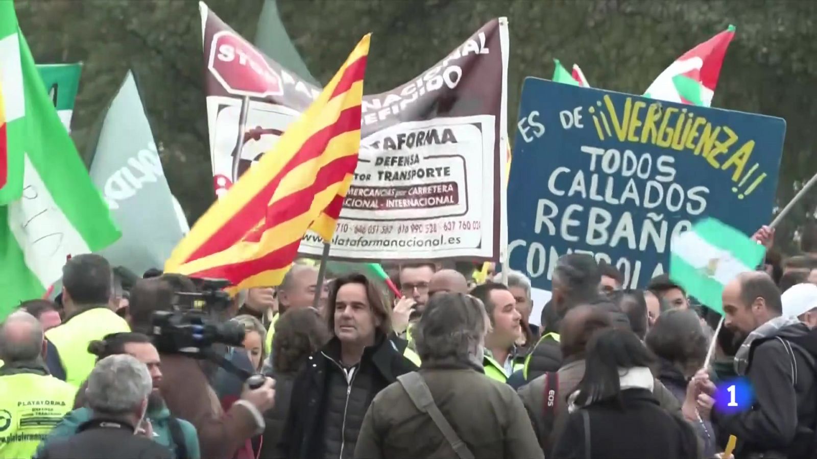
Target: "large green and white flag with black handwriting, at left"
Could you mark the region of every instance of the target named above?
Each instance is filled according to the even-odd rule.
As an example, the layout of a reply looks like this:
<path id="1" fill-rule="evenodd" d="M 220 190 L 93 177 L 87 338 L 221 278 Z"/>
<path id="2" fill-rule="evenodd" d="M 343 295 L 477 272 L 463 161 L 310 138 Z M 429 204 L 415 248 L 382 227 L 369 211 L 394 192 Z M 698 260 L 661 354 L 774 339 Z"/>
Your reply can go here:
<path id="1" fill-rule="evenodd" d="M 0 2 L 0 17 L 14 14 L 8 5 Z M 16 120 L 24 134 L 18 140 L 23 192 L 0 207 L 0 320 L 60 279 L 67 256 L 96 252 L 121 235 L 42 86 L 19 29 L 13 41 L 19 43 L 19 60 L 0 61 L 0 74 L 16 68 L 21 75 L 20 93 L 12 96 L 25 100 L 25 115 Z M 2 45 L 0 56 L 8 56 Z"/>

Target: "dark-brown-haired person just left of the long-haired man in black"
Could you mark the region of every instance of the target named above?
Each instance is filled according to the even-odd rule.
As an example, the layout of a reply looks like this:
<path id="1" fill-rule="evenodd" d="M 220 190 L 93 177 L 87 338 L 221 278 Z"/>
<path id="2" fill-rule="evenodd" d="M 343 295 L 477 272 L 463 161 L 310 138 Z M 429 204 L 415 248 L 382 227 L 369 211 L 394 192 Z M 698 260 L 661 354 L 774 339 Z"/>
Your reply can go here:
<path id="1" fill-rule="evenodd" d="M 289 411 L 292 384 L 311 354 L 329 341 L 326 321 L 312 308 L 288 310 L 275 322 L 272 354 L 265 365 L 266 376 L 275 379 L 275 408 L 264 413 L 266 428 L 261 458 L 275 457 L 283 421 Z"/>

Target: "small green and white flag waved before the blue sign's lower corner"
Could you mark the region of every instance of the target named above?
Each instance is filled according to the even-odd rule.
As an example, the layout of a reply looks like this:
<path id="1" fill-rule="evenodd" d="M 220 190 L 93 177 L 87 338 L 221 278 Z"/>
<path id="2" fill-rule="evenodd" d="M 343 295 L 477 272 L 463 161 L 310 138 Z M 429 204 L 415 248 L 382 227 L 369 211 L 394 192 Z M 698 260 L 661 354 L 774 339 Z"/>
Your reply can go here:
<path id="1" fill-rule="evenodd" d="M 670 252 L 670 278 L 723 315 L 723 287 L 738 274 L 755 270 L 766 248 L 730 225 L 707 218 L 673 238 Z"/>

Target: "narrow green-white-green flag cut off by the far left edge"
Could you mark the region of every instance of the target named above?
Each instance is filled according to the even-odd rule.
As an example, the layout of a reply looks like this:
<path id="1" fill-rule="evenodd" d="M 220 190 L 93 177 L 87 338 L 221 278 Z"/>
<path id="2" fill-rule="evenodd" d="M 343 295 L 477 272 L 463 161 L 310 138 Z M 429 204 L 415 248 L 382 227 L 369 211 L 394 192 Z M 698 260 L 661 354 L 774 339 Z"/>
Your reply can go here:
<path id="1" fill-rule="evenodd" d="M 24 42 L 14 2 L 0 1 L 0 204 L 23 193 L 26 94 L 20 48 Z"/>

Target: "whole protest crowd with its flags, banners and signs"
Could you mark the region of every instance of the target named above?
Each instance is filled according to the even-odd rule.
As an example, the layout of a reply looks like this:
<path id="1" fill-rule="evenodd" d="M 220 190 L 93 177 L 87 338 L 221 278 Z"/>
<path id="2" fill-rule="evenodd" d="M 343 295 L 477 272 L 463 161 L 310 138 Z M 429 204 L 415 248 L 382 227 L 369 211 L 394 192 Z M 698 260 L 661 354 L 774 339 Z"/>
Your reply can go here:
<path id="1" fill-rule="evenodd" d="M 557 62 L 511 145 L 505 18 L 364 96 L 368 35 L 321 88 L 200 12 L 191 229 L 86 169 L 0 2 L 0 459 L 817 458 L 817 225 L 779 251 L 784 122 L 710 106 L 734 28 L 643 96 Z M 161 172 L 125 100 L 97 150 Z"/>

